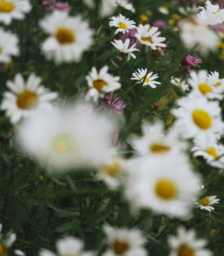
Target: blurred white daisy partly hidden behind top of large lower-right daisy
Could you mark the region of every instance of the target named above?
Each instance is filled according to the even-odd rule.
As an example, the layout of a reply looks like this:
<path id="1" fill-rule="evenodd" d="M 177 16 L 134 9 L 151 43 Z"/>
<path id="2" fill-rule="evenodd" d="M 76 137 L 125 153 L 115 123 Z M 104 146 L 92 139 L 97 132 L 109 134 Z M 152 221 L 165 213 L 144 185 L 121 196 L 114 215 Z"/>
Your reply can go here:
<path id="1" fill-rule="evenodd" d="M 144 122 L 142 124 L 142 136 L 131 135 L 129 144 L 137 151 L 140 156 L 164 156 L 173 151 L 180 154 L 186 148 L 185 143 L 181 143 L 174 129 L 164 134 L 164 124 L 162 121 L 156 121 L 151 124 Z"/>

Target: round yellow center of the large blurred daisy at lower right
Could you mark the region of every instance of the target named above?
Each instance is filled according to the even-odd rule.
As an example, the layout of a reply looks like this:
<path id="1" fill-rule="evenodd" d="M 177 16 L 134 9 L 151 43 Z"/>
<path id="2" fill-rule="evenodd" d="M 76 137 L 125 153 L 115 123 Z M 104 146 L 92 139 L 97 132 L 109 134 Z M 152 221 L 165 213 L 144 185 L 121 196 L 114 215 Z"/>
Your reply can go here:
<path id="1" fill-rule="evenodd" d="M 155 184 L 155 193 L 161 199 L 171 200 L 177 195 L 177 186 L 172 180 L 159 179 Z"/>

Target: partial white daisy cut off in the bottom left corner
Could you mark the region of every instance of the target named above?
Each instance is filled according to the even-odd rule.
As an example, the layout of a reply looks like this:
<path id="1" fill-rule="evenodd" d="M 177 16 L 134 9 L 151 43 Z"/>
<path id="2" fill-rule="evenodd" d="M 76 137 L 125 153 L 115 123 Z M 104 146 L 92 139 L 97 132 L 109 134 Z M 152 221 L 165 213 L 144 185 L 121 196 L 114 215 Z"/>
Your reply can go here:
<path id="1" fill-rule="evenodd" d="M 16 241 L 16 234 L 12 232 L 2 234 L 1 230 L 2 224 L 0 223 L 0 256 L 7 256 L 9 248 Z M 25 256 L 25 253 L 18 249 L 15 249 L 14 253 L 18 256 Z"/>

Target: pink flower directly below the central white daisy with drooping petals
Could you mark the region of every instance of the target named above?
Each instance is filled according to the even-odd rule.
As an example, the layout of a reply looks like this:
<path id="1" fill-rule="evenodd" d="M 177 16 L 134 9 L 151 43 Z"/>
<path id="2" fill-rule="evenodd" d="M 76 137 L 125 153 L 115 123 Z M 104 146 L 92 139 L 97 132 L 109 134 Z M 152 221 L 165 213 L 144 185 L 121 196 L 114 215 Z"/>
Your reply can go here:
<path id="1" fill-rule="evenodd" d="M 103 100 L 97 109 L 103 108 L 104 111 L 109 109 L 110 113 L 116 113 L 118 115 L 122 115 L 124 113 L 123 110 L 126 105 L 123 100 L 119 100 L 119 97 L 117 97 L 116 94 L 114 94 L 113 97 L 113 92 L 111 92 L 111 94 L 107 95 L 105 98 L 106 100 Z"/>

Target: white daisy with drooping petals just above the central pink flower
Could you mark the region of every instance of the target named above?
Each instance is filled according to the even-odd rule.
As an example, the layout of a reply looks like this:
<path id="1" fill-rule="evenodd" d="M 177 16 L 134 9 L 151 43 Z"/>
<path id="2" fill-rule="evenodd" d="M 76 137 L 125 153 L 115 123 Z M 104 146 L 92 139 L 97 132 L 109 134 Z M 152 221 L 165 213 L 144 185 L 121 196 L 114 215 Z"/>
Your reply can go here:
<path id="1" fill-rule="evenodd" d="M 108 73 L 108 66 L 104 66 L 97 72 L 95 67 L 92 67 L 89 74 L 86 76 L 87 84 L 90 90 L 86 93 L 86 100 L 92 98 L 95 102 L 104 97 L 104 93 L 108 93 L 121 88 L 119 76 L 112 76 Z"/>

